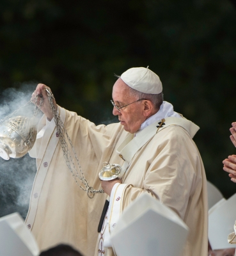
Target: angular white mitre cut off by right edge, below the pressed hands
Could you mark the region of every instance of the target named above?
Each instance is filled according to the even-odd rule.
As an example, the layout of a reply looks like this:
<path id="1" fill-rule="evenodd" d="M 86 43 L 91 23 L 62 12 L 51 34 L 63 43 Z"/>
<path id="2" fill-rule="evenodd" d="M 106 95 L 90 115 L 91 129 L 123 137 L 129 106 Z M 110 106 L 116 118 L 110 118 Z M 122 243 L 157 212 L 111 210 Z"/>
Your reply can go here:
<path id="1" fill-rule="evenodd" d="M 235 205 L 236 193 L 228 200 L 221 199 L 208 211 L 208 239 L 212 250 L 236 247 L 228 243 L 228 234 L 234 231 Z"/>

